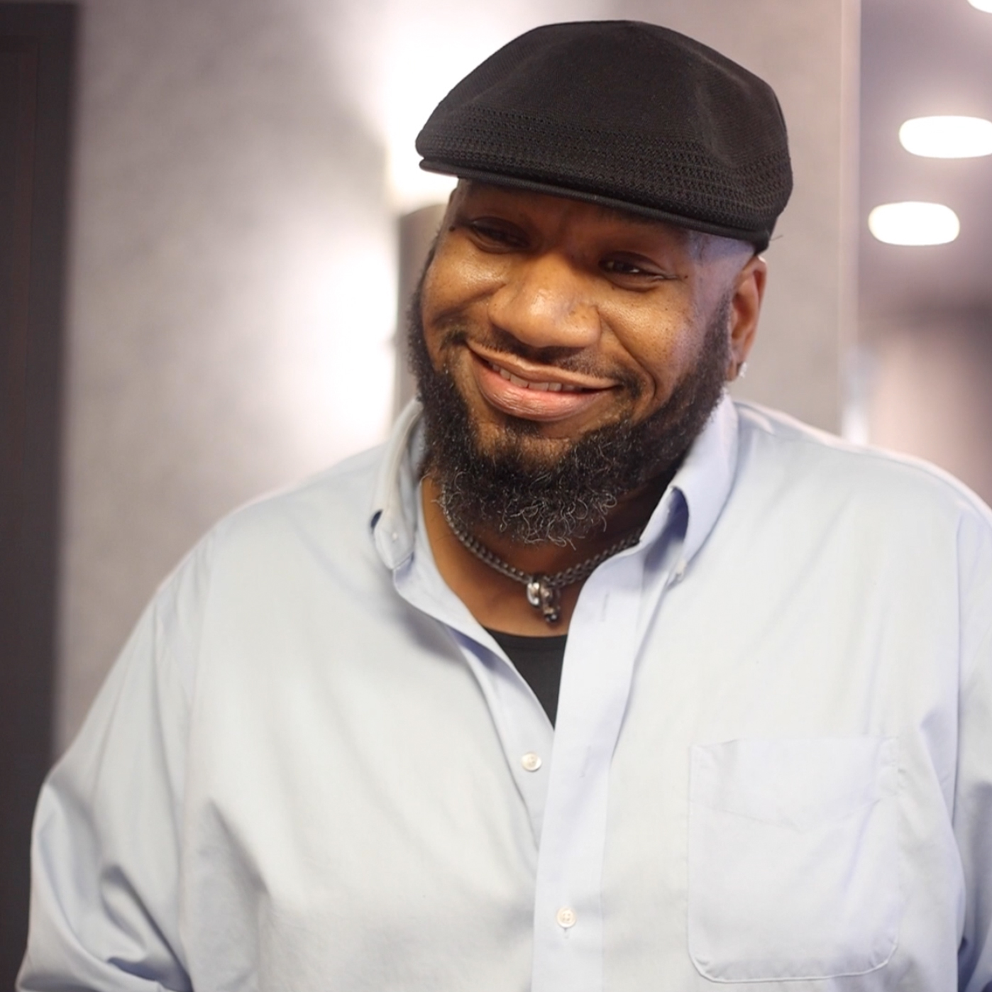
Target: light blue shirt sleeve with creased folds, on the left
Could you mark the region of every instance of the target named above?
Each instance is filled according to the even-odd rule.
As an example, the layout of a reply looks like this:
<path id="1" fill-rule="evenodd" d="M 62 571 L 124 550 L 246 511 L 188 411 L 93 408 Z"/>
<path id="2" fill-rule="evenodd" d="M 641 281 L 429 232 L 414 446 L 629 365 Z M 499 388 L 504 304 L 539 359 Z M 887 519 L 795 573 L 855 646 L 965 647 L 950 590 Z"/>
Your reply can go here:
<path id="1" fill-rule="evenodd" d="M 179 878 L 197 558 L 145 611 L 42 789 L 20 992 L 191 988 Z"/>

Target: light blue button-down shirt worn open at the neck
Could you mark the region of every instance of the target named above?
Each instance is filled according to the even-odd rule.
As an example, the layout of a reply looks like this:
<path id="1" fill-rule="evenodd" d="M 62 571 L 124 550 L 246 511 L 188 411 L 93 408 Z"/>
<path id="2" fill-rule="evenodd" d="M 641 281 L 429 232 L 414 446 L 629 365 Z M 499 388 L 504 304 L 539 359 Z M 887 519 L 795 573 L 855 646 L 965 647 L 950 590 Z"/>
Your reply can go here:
<path id="1" fill-rule="evenodd" d="M 163 586 L 40 801 L 22 989 L 992 988 L 987 509 L 724 400 L 553 729 L 418 425 Z"/>

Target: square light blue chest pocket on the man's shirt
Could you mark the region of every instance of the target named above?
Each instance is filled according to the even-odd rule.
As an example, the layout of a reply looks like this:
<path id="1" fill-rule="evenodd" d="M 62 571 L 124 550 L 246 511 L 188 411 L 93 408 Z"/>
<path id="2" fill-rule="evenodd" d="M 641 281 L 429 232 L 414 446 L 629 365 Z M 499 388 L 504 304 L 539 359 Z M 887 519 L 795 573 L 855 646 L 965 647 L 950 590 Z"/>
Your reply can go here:
<path id="1" fill-rule="evenodd" d="M 898 741 L 690 749 L 688 951 L 713 981 L 858 975 L 899 938 Z"/>

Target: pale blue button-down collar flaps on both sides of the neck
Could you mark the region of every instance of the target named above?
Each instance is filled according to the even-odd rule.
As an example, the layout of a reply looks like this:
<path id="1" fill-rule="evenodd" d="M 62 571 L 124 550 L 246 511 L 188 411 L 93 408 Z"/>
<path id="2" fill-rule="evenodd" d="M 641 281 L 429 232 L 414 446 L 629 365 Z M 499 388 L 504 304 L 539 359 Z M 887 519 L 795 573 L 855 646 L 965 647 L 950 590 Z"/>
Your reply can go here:
<path id="1" fill-rule="evenodd" d="M 395 569 L 414 552 L 417 533 L 417 467 L 424 448 L 421 405 L 410 403 L 386 442 L 372 500 L 369 524 L 379 557 Z M 713 529 L 733 482 L 737 466 L 737 410 L 724 394 L 705 428 L 693 441 L 672 489 L 682 494 L 688 523 L 682 542 L 680 573 L 702 547 Z M 641 545 L 650 544 L 664 530 L 670 501 L 662 500 L 645 528 Z"/>

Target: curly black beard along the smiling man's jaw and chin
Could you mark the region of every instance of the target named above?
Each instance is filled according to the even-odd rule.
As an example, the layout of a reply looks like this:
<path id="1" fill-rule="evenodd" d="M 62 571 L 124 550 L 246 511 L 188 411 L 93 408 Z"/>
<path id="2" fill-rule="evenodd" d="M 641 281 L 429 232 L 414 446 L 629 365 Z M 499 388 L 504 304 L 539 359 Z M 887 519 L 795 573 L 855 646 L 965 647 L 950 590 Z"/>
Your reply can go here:
<path id="1" fill-rule="evenodd" d="M 650 417 L 606 424 L 557 447 L 553 456 L 534 452 L 537 425 L 509 418 L 499 440 L 483 449 L 450 370 L 435 369 L 428 352 L 423 286 L 424 276 L 408 314 L 410 362 L 424 406 L 421 472 L 432 476 L 448 513 L 469 533 L 482 525 L 519 544 L 564 545 L 604 528 L 625 493 L 650 479 L 667 481 L 675 475 L 723 395 L 730 357 L 729 295 L 707 325 L 695 367 Z M 440 353 L 465 338 L 453 327 Z M 512 350 L 506 347 L 509 340 L 501 338 L 501 343 Z"/>

